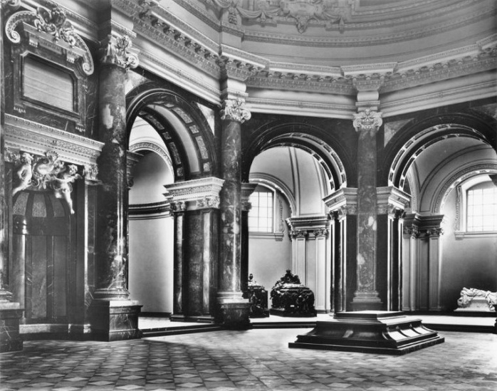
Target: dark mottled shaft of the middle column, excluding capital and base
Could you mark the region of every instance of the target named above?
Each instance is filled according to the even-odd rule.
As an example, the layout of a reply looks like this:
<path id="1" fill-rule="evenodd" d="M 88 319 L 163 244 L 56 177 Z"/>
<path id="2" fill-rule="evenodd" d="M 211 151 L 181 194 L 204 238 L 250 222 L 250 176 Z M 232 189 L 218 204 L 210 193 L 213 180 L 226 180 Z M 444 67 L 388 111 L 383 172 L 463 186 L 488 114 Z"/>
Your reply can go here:
<path id="1" fill-rule="evenodd" d="M 224 120 L 221 135 L 220 291 L 241 291 L 241 126 Z"/>

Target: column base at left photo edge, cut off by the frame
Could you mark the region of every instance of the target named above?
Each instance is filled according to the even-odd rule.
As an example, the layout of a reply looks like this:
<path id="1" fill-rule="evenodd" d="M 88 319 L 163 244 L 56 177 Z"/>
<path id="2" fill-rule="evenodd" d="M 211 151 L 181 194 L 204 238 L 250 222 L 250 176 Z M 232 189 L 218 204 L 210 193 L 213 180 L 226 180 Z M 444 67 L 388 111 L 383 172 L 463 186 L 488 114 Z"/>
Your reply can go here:
<path id="1" fill-rule="evenodd" d="M 0 353 L 23 350 L 19 319 L 24 310 L 16 302 L 0 302 Z"/>

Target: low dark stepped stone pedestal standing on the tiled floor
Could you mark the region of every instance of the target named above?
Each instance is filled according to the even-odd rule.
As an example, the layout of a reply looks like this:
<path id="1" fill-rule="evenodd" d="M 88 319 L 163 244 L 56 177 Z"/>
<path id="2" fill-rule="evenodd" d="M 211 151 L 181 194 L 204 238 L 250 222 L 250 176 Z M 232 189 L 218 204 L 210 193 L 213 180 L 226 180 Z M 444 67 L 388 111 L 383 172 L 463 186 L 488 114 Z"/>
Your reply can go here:
<path id="1" fill-rule="evenodd" d="M 353 311 L 317 322 L 310 333 L 298 335 L 288 347 L 404 355 L 443 342 L 420 319 L 402 312 Z"/>

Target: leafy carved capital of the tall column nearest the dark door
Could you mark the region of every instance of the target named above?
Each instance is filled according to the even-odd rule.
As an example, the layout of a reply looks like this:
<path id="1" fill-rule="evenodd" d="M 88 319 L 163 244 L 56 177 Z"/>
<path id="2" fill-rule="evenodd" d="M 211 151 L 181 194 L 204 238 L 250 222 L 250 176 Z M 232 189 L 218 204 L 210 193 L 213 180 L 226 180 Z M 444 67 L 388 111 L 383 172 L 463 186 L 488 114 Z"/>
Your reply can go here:
<path id="1" fill-rule="evenodd" d="M 120 68 L 129 69 L 138 66 L 137 51 L 131 48 L 132 43 L 129 36 L 119 36 L 110 33 L 100 41 L 98 56 L 103 65 L 115 65 Z"/>

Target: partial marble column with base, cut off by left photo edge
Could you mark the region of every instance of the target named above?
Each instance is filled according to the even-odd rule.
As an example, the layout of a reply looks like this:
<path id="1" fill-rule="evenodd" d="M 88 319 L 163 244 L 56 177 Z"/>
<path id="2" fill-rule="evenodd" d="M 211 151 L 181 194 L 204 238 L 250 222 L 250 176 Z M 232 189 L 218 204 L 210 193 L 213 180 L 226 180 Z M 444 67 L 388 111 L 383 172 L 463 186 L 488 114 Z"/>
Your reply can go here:
<path id="1" fill-rule="evenodd" d="M 4 1 L 1 1 L 4 3 Z M 2 4 L 0 3 L 0 14 Z M 9 1 L 9 6 L 16 1 Z M 4 90 L 4 29 L 0 31 L 0 353 L 14 350 L 22 350 L 23 341 L 19 334 L 19 318 L 23 314 L 21 304 L 13 301 L 12 293 L 9 291 L 9 281 L 13 276 L 9 273 L 9 234 L 12 233 L 9 211 L 11 210 L 11 170 L 6 170 L 6 151 L 4 145 L 4 113 L 5 113 L 5 90 Z M 9 183 L 6 179 L 9 178 Z M 8 202 L 9 199 L 9 202 Z"/>

